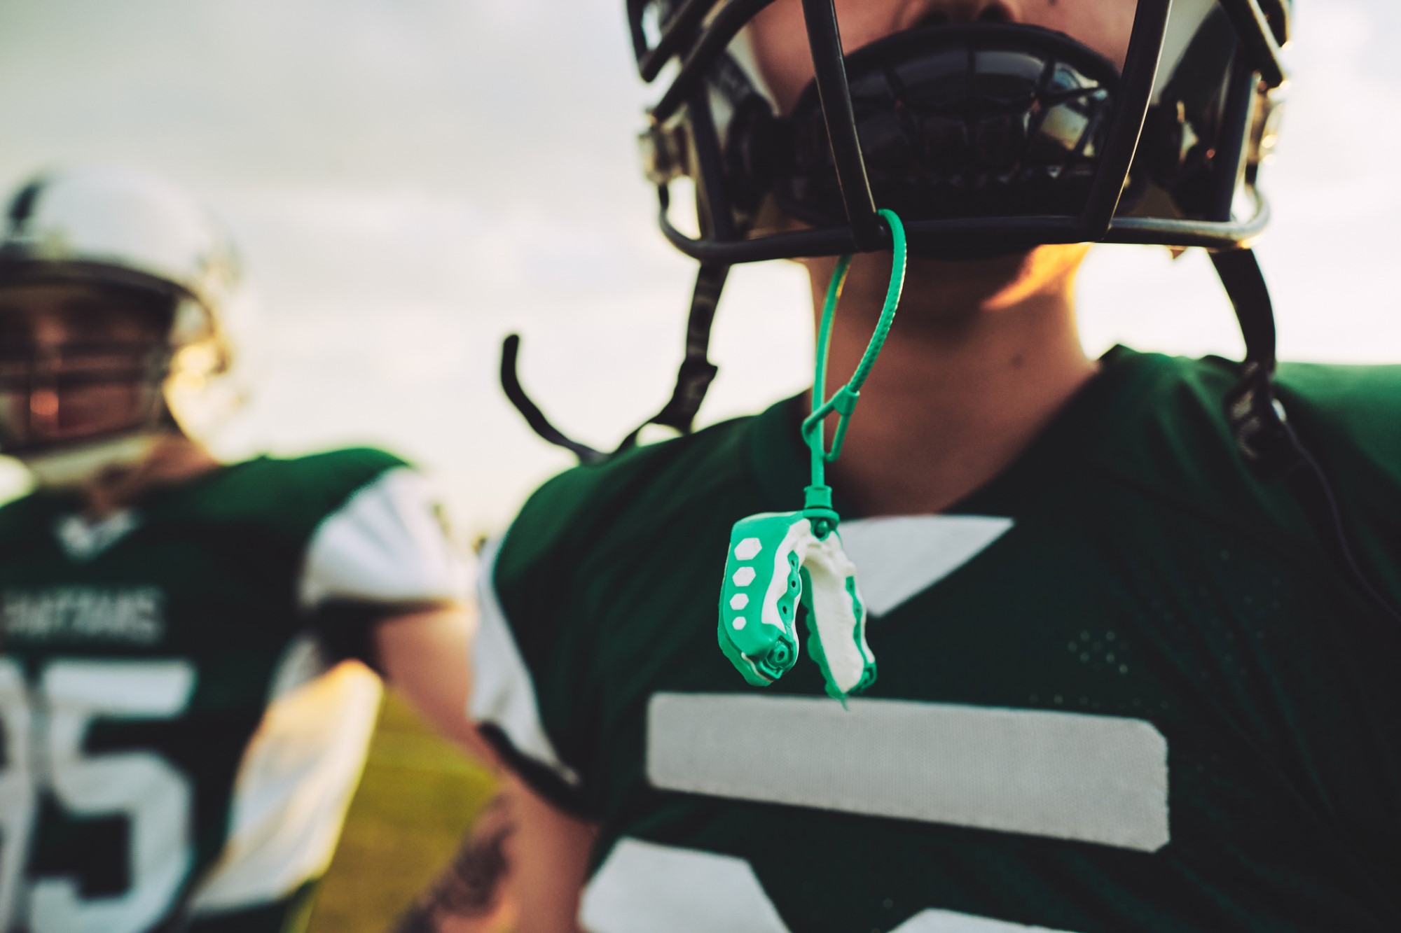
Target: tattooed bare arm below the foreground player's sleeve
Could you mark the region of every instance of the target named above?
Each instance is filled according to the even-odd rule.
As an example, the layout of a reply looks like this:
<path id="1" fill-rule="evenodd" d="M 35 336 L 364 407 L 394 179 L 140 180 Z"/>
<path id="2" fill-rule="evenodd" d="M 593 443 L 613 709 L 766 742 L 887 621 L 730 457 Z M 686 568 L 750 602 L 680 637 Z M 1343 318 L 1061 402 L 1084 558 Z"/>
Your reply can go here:
<path id="1" fill-rule="evenodd" d="M 394 933 L 577 933 L 595 832 L 507 775 Z"/>

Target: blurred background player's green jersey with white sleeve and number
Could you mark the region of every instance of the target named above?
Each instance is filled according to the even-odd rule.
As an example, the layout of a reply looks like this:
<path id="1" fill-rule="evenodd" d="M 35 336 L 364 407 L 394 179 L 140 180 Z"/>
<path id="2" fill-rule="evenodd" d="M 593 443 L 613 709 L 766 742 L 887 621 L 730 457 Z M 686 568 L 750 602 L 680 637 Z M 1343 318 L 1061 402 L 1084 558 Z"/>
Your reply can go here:
<path id="1" fill-rule="evenodd" d="M 464 588 L 426 482 L 347 450 L 73 506 L 0 509 L 0 930 L 301 929 L 380 699 L 340 661 Z"/>

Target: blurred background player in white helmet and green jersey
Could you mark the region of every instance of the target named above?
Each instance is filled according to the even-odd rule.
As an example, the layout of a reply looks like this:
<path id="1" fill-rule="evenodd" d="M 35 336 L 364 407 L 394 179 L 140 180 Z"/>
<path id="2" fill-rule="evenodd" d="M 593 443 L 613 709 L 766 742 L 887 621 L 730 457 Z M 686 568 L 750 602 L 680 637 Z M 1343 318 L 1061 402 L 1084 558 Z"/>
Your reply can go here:
<path id="1" fill-rule="evenodd" d="M 300 930 L 368 668 L 476 741 L 464 562 L 389 454 L 206 450 L 247 301 L 185 195 L 53 172 L 3 223 L 0 452 L 35 490 L 0 509 L 0 929 Z"/>

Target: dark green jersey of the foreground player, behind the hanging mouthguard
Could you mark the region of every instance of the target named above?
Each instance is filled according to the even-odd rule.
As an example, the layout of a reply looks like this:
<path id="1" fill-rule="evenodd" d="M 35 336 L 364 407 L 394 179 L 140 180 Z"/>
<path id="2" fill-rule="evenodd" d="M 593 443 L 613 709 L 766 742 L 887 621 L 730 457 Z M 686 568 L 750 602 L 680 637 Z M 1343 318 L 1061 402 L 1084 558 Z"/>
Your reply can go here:
<path id="1" fill-rule="evenodd" d="M 803 504 L 800 399 L 538 490 L 483 566 L 474 712 L 601 825 L 586 929 L 1401 929 L 1401 629 L 1247 471 L 1234 378 L 1115 349 L 944 514 L 836 479 L 878 665 L 849 709 L 716 644 L 731 524 Z M 1401 602 L 1401 367 L 1281 398 Z"/>

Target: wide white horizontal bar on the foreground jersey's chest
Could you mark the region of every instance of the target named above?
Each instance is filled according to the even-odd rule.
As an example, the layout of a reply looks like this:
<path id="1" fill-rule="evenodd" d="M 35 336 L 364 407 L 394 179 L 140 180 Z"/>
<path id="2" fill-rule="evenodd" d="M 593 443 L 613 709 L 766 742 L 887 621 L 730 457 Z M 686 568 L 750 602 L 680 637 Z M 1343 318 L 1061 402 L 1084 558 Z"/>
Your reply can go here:
<path id="1" fill-rule="evenodd" d="M 755 693 L 657 693 L 647 778 L 664 790 L 1156 852 L 1167 740 L 1152 723 Z"/>

